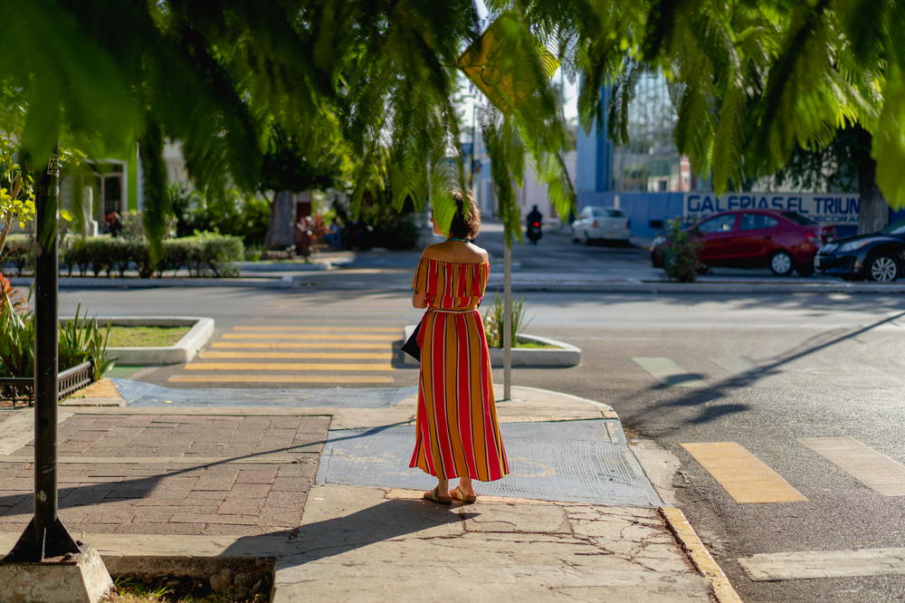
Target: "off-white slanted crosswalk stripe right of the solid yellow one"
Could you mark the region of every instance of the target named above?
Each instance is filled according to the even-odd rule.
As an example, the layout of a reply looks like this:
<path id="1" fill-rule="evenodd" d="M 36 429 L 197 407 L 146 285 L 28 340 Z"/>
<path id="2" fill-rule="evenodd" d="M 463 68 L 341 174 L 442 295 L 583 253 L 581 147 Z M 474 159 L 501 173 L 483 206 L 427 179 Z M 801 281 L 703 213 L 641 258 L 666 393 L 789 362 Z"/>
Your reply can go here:
<path id="1" fill-rule="evenodd" d="M 798 441 L 875 493 L 905 496 L 905 466 L 853 437 L 805 437 Z"/>

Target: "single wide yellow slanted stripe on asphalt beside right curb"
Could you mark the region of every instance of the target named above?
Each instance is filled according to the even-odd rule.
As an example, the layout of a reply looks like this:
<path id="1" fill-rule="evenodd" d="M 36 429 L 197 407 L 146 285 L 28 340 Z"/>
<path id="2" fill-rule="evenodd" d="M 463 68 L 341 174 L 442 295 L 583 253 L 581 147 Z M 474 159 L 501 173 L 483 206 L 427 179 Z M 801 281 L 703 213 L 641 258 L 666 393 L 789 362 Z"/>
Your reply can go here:
<path id="1" fill-rule="evenodd" d="M 736 442 L 682 444 L 736 503 L 800 503 L 805 496 Z"/>

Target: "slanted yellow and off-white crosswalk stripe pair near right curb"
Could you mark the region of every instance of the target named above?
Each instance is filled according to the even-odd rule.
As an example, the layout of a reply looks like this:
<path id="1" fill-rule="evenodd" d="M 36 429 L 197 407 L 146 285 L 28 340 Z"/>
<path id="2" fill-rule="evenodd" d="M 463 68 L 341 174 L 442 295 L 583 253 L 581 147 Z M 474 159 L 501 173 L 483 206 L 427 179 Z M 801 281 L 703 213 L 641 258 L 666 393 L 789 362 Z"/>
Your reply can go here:
<path id="1" fill-rule="evenodd" d="M 855 438 L 807 437 L 796 441 L 874 493 L 905 496 L 905 465 Z M 737 442 L 688 442 L 681 447 L 736 503 L 806 503 L 808 500 L 782 475 Z"/>

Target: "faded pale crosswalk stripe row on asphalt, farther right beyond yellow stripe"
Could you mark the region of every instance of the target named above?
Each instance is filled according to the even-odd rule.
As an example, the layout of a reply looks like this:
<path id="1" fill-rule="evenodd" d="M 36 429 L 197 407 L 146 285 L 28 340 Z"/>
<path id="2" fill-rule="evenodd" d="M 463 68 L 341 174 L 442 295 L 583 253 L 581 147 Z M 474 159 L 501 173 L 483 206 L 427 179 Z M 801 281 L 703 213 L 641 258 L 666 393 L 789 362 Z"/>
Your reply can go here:
<path id="1" fill-rule="evenodd" d="M 905 386 L 900 370 L 877 368 L 859 359 L 819 358 L 755 361 L 743 356 L 693 359 L 632 357 L 635 366 L 661 388 L 709 388 L 743 384 L 750 388 L 885 388 Z"/>

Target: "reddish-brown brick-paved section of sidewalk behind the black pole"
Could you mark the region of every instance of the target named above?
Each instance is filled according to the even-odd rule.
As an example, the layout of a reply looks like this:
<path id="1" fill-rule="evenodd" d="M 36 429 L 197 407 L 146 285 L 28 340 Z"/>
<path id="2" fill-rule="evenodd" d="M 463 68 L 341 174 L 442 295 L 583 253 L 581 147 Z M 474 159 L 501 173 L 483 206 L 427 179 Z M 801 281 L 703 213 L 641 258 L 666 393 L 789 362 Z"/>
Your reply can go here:
<path id="1" fill-rule="evenodd" d="M 76 413 L 59 427 L 60 517 L 76 535 L 296 527 L 328 427 L 326 416 Z M 33 464 L 20 459 L 33 454 L 28 443 L 0 456 L 0 532 L 32 517 Z"/>

